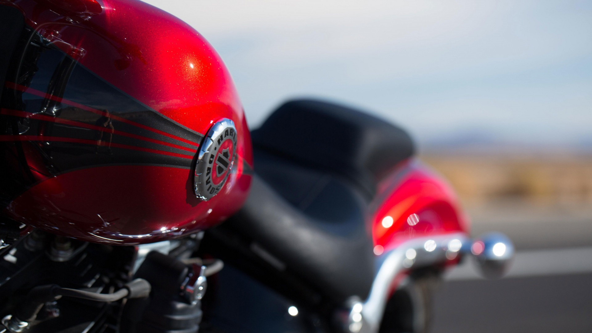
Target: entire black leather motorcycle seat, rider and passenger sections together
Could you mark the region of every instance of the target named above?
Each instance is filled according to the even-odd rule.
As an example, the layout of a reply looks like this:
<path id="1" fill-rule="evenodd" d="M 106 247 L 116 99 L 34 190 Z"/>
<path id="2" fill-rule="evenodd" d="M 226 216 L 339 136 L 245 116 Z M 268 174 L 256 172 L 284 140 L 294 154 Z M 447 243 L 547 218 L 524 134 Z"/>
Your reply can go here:
<path id="1" fill-rule="evenodd" d="M 320 101 L 282 105 L 253 131 L 249 198 L 230 223 L 337 302 L 374 278 L 367 207 L 377 181 L 413 154 L 407 133 Z"/>

